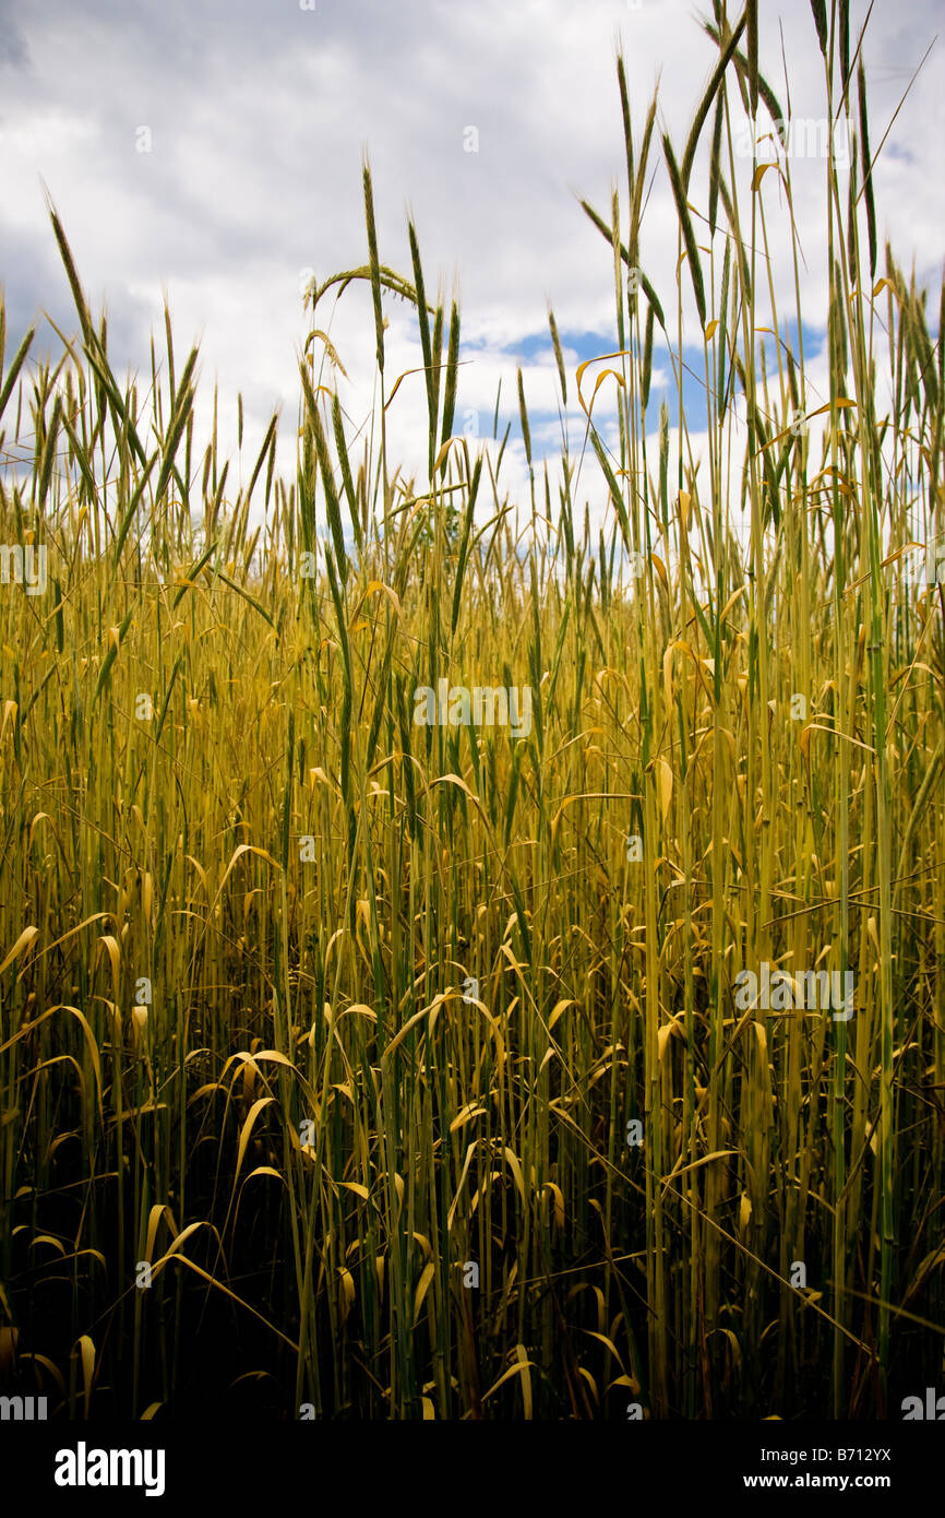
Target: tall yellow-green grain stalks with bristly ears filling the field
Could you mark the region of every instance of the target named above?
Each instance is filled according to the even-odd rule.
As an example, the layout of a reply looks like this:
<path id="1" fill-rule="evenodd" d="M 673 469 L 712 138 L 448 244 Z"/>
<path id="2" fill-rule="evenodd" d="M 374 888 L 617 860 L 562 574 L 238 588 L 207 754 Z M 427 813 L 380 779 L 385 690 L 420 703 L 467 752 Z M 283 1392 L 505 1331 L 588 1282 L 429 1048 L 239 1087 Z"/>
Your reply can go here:
<path id="1" fill-rule="evenodd" d="M 942 533 L 945 376 L 880 254 L 860 38 L 812 9 L 854 143 L 822 165 L 830 310 L 801 310 L 798 165 L 734 146 L 739 99 L 781 117 L 755 6 L 714 6 L 681 153 L 619 59 L 626 190 L 584 206 L 617 352 L 569 373 L 549 314 L 587 419 L 554 505 L 520 375 L 529 501 L 498 404 L 494 445 L 454 437 L 460 314 L 413 225 L 410 276 L 381 261 L 367 167 L 367 263 L 309 291 L 294 481 L 275 419 L 246 483 L 215 430 L 199 452 L 170 322 L 147 390 L 117 380 L 52 213 L 80 332 L 3 369 L 0 328 L 0 537 L 49 563 L 46 595 L 0 595 L 6 1390 L 73 1418 L 866 1418 L 940 1374 L 945 600 L 906 566 Z M 675 285 L 646 266 L 658 159 Z M 352 285 L 358 451 L 322 319 Z M 407 484 L 391 293 L 429 417 Z M 531 686 L 531 732 L 417 726 L 441 679 Z M 763 962 L 852 970 L 854 1017 L 742 1009 Z"/>

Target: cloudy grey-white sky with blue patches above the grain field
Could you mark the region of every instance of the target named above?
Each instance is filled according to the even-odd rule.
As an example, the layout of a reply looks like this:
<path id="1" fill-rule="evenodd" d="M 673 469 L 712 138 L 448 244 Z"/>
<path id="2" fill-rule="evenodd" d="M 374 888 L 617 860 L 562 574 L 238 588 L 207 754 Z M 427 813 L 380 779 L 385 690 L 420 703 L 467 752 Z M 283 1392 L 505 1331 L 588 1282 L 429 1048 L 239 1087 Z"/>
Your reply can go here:
<path id="1" fill-rule="evenodd" d="M 795 118 L 822 115 L 807 0 L 761 0 L 760 9 L 761 71 Z M 499 431 L 514 419 L 505 481 L 514 489 L 525 478 L 519 364 L 535 452 L 560 443 L 548 304 L 572 378 L 582 358 L 616 346 L 610 254 L 576 197 L 605 211 L 613 184 L 625 187 L 617 41 L 637 138 L 660 79 L 658 123 L 681 149 L 716 56 L 701 27 L 710 12 L 708 0 L 0 0 L 0 284 L 11 340 L 42 311 L 76 328 L 46 185 L 93 307 L 106 304 L 118 372 L 149 372 L 149 334 L 161 329 L 167 296 L 177 363 L 200 342 L 202 424 L 218 383 L 229 451 L 243 392 L 246 475 L 281 407 L 281 466 L 291 469 L 297 361 L 311 326 L 300 287 L 311 272 L 323 281 L 366 260 L 369 153 L 382 263 L 410 273 L 411 208 L 428 293 L 440 281 L 444 298 L 461 299 L 457 431 L 491 433 L 502 378 Z M 865 14 L 854 0 L 857 32 Z M 874 150 L 892 121 L 875 173 L 880 237 L 903 266 L 915 264 L 934 307 L 945 241 L 940 17 L 939 0 L 875 0 L 863 47 Z M 798 162 L 793 176 L 815 358 L 824 165 Z M 695 203 L 704 185 L 702 164 Z M 660 167 L 642 263 L 670 308 L 675 257 Z M 778 279 L 789 275 L 786 264 Z M 385 314 L 393 376 L 419 363 L 420 349 L 410 310 L 387 301 Z M 352 287 L 337 308 L 326 301 L 319 325 L 329 317 L 355 430 L 370 407 L 369 288 Z M 56 348 L 47 323 L 38 348 Z M 663 361 L 657 407 L 666 387 Z M 579 442 L 581 413 L 569 410 Z M 402 384 L 390 419 L 394 455 L 419 472 L 422 376 Z"/>

